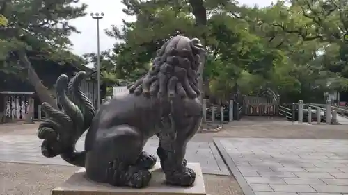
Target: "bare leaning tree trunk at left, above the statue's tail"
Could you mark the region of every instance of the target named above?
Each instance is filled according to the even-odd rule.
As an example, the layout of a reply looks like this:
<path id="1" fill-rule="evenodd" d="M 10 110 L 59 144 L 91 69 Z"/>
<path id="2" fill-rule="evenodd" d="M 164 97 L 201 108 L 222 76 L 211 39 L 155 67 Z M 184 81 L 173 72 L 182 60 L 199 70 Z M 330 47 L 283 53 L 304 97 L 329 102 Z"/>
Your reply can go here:
<path id="1" fill-rule="evenodd" d="M 53 108 L 58 109 L 56 100 L 52 97 L 47 87 L 45 87 L 45 85 L 42 84 L 40 78 L 38 77 L 38 74 L 36 74 L 35 72 L 35 69 L 31 66 L 31 62 L 26 56 L 25 51 L 18 51 L 18 56 L 19 60 L 21 60 L 24 64 L 24 67 L 28 69 L 29 83 L 33 85 L 33 87 L 35 88 L 36 94 L 38 94 L 40 101 L 47 102 L 50 105 L 52 105 Z"/>

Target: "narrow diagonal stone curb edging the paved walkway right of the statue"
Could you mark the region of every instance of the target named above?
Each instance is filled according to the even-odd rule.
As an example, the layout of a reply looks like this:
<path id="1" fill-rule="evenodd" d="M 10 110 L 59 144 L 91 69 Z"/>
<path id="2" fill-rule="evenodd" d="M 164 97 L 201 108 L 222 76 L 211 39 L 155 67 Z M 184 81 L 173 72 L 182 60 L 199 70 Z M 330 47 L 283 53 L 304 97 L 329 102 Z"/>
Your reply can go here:
<path id="1" fill-rule="evenodd" d="M 216 146 L 216 149 L 219 151 L 222 160 L 225 162 L 228 169 L 230 170 L 231 175 L 235 177 L 237 183 L 242 188 L 244 195 L 255 195 L 253 189 L 251 189 L 250 185 L 246 182 L 244 176 L 242 176 L 242 173 L 239 171 L 232 158 L 230 158 L 230 155 L 228 155 L 227 151 L 225 150 L 223 144 L 221 144 L 219 139 L 214 138 L 214 144 Z"/>

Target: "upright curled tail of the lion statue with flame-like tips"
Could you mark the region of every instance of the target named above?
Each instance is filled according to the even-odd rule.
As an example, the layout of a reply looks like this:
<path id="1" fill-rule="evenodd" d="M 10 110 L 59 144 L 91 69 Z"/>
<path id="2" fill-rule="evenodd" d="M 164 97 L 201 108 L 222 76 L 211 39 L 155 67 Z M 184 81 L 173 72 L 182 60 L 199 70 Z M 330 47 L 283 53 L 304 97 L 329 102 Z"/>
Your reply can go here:
<path id="1" fill-rule="evenodd" d="M 75 145 L 95 116 L 93 104 L 79 88 L 85 75 L 84 71 L 80 71 L 70 82 L 65 74 L 59 76 L 56 96 L 61 110 L 42 103 L 46 119 L 38 129 L 38 137 L 43 139 L 42 155 L 49 158 L 61 155 L 63 160 L 79 167 L 84 167 L 86 151 L 75 151 Z"/>

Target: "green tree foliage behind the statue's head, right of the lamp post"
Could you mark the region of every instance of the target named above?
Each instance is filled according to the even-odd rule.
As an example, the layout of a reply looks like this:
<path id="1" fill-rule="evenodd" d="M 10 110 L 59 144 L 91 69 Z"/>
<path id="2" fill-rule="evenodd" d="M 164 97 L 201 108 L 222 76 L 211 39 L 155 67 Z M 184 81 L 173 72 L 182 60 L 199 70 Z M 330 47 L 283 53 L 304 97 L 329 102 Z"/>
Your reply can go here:
<path id="1" fill-rule="evenodd" d="M 136 80 L 159 46 L 181 34 L 199 37 L 207 49 L 203 80 L 210 96 L 228 99 L 236 85 L 242 94 L 258 94 L 267 85 L 285 102 L 320 101 L 323 92 L 348 86 L 345 1 L 277 1 L 266 8 L 228 0 L 122 3 L 136 21 L 106 31 L 118 40 L 101 57 L 108 82 Z"/>

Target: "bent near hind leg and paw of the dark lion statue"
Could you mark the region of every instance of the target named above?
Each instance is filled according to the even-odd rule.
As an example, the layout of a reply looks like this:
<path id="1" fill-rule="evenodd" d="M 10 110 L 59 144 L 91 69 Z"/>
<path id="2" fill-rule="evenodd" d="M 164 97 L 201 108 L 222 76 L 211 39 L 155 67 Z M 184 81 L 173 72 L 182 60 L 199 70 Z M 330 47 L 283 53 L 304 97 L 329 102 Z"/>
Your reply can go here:
<path id="1" fill-rule="evenodd" d="M 86 162 L 89 178 L 115 186 L 140 188 L 148 185 L 150 171 L 137 164 L 145 145 L 138 129 L 132 126 L 100 129 L 95 139 Z"/>

